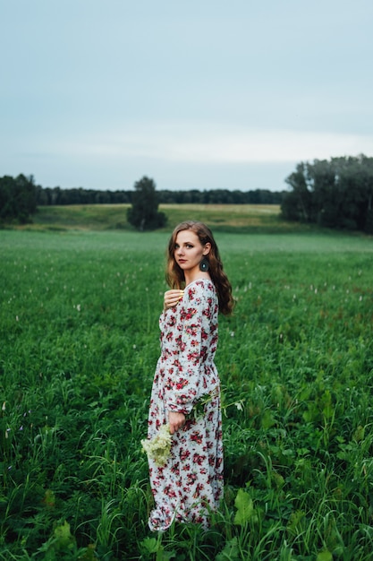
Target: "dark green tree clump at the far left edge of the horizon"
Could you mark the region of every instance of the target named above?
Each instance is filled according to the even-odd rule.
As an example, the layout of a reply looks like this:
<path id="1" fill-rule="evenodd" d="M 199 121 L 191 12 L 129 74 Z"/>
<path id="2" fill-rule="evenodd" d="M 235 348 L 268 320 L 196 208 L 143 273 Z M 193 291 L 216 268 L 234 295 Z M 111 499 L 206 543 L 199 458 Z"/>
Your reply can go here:
<path id="1" fill-rule="evenodd" d="M 0 223 L 30 222 L 37 210 L 37 186 L 32 176 L 0 177 Z"/>

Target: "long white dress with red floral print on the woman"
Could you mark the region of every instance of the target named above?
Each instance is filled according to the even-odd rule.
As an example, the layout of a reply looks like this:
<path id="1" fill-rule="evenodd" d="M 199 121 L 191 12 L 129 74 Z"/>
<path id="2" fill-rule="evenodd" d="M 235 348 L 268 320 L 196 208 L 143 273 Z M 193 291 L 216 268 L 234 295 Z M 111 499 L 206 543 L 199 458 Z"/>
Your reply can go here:
<path id="1" fill-rule="evenodd" d="M 182 301 L 159 319 L 161 355 L 157 362 L 148 438 L 168 423 L 169 411 L 188 415 L 197 401 L 202 413 L 187 417 L 174 433 L 165 466 L 151 459 L 149 475 L 155 508 L 148 525 L 165 531 L 174 520 L 208 527 L 209 513 L 223 495 L 223 444 L 220 383 L 214 357 L 217 344 L 218 302 L 211 280 L 195 280 Z M 206 394 L 209 394 L 208 399 Z"/>

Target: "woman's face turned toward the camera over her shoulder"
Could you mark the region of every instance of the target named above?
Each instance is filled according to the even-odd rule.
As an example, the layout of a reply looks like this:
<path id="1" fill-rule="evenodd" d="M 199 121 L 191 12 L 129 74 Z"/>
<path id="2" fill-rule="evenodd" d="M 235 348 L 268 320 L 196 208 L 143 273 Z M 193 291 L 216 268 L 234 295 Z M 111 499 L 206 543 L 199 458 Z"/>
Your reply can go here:
<path id="1" fill-rule="evenodd" d="M 183 272 L 199 269 L 204 255 L 208 255 L 210 244 L 202 246 L 199 237 L 191 229 L 179 232 L 174 244 L 174 260 Z"/>

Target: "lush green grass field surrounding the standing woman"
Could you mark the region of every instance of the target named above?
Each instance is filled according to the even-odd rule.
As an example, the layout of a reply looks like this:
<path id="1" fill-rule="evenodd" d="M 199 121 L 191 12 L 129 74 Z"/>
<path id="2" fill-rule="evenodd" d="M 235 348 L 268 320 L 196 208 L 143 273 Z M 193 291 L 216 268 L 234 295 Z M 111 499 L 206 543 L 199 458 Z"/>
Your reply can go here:
<path id="1" fill-rule="evenodd" d="M 169 231 L 0 231 L 1 560 L 372 559 L 372 239 L 213 219 L 225 500 L 159 536 L 140 439 Z"/>

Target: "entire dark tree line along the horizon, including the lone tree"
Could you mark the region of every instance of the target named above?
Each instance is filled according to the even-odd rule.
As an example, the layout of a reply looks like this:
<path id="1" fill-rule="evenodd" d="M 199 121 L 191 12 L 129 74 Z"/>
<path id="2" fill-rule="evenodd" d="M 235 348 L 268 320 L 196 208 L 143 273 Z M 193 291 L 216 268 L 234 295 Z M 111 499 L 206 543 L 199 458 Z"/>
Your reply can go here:
<path id="1" fill-rule="evenodd" d="M 317 223 L 335 229 L 373 234 L 373 158 L 363 154 L 301 162 L 285 179 L 288 191 L 160 190 L 143 177 L 133 190 L 62 189 L 35 184 L 34 177 L 0 177 L 0 223 L 31 220 L 38 206 L 67 204 L 131 204 L 128 219 L 136 228 L 165 223 L 158 204 L 279 204 L 284 220 Z M 149 213 L 150 212 L 150 213 Z"/>

